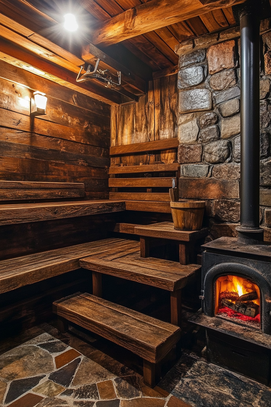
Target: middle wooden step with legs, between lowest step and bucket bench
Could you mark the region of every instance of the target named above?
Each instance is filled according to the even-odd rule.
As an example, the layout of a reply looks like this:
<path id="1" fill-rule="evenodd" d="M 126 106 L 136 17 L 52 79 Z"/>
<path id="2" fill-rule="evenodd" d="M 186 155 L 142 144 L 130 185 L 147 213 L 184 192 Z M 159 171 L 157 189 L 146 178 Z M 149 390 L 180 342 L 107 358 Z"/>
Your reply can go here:
<path id="1" fill-rule="evenodd" d="M 119 240 L 119 244 L 117 243 Z M 117 247 L 118 245 L 118 247 Z M 125 278 L 170 291 L 171 324 L 181 325 L 181 289 L 191 281 L 199 265 L 180 265 L 174 261 L 141 258 L 140 244 L 133 240 L 116 239 L 114 248 L 93 253 L 80 260 L 81 267 L 92 271 L 93 294 L 102 297 L 102 275 Z"/>

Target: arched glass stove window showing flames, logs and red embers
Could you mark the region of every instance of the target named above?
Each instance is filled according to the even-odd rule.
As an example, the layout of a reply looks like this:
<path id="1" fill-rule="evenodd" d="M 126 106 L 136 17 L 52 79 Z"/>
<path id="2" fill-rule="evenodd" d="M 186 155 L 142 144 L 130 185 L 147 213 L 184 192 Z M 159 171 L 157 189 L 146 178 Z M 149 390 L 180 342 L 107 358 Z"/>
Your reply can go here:
<path id="1" fill-rule="evenodd" d="M 215 314 L 260 329 L 260 290 L 240 276 L 221 276 L 215 283 Z"/>

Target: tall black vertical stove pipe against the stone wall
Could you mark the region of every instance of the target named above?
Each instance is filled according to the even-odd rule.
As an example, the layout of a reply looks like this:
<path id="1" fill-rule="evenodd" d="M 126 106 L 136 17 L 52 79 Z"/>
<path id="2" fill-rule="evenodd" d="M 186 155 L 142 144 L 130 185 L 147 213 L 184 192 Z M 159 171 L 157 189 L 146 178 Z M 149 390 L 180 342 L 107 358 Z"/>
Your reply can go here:
<path id="1" fill-rule="evenodd" d="M 256 3 L 256 4 L 255 4 Z M 259 4 L 240 8 L 241 179 L 238 241 L 260 244 L 260 20 Z M 239 7 L 240 7 L 239 6 Z"/>

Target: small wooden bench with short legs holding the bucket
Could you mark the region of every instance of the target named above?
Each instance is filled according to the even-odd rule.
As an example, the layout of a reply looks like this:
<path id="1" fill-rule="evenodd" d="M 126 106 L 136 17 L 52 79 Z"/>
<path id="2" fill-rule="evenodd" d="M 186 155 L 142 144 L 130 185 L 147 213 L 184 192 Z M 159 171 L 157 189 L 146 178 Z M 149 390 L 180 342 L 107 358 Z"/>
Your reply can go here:
<path id="1" fill-rule="evenodd" d="M 208 228 L 201 230 L 175 230 L 173 222 L 160 222 L 153 225 L 135 225 L 134 234 L 140 235 L 140 256 L 149 257 L 150 247 L 158 244 L 158 239 L 178 241 L 180 264 L 188 264 L 193 259 L 193 244 L 207 236 Z"/>

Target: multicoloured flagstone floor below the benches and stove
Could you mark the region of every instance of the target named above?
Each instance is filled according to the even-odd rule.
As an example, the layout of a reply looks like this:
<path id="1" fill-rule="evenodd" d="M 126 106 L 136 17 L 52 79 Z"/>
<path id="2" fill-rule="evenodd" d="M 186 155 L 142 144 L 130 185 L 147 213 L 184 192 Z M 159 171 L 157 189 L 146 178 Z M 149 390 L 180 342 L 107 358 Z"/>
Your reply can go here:
<path id="1" fill-rule="evenodd" d="M 136 363 L 124 365 L 95 347 L 97 339 L 74 327 L 59 334 L 43 324 L 30 330 L 29 337 L 10 341 L 7 352 L 7 343 L 6 349 L 0 344 L 1 407 L 271 406 L 269 387 L 207 363 L 195 353 L 184 352 L 150 389 Z"/>

